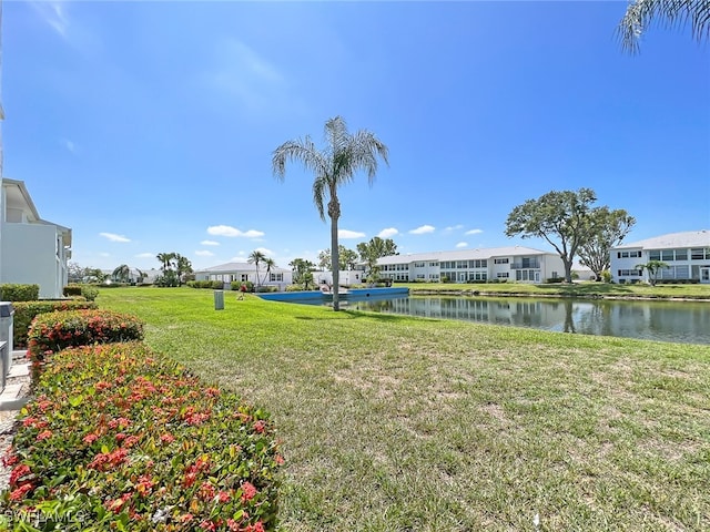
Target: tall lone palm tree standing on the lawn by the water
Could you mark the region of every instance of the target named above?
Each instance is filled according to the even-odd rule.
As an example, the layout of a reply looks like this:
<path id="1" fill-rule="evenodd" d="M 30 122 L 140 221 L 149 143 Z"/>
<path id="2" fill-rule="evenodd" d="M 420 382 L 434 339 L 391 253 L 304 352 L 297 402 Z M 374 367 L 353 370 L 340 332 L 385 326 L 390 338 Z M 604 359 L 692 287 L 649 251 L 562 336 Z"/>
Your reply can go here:
<path id="1" fill-rule="evenodd" d="M 358 170 L 367 173 L 372 185 L 377 173 L 377 160 L 382 157 L 386 164 L 388 150 L 373 133 L 359 130 L 355 134 L 347 131 L 341 116 L 329 119 L 325 123 L 326 146 L 318 151 L 310 136 L 287 141 L 274 150 L 272 164 L 274 175 L 283 181 L 287 161 L 301 161 L 315 174 L 313 181 L 313 203 L 321 219 L 325 222 L 324 202 L 328 198 L 327 214 L 331 218 L 331 269 L 333 270 L 333 310 L 341 309 L 338 297 L 338 244 L 337 222 L 341 217 L 341 202 L 337 188 L 355 178 Z"/>

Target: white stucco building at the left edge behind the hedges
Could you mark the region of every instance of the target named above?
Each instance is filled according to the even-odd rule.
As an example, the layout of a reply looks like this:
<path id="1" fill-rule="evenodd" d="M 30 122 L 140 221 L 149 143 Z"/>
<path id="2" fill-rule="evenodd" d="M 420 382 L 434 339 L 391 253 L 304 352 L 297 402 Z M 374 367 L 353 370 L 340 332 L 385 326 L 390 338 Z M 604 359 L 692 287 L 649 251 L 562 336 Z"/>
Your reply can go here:
<path id="1" fill-rule="evenodd" d="M 42 219 L 24 182 L 2 178 L 0 284 L 40 286 L 40 298 L 62 297 L 71 229 Z"/>

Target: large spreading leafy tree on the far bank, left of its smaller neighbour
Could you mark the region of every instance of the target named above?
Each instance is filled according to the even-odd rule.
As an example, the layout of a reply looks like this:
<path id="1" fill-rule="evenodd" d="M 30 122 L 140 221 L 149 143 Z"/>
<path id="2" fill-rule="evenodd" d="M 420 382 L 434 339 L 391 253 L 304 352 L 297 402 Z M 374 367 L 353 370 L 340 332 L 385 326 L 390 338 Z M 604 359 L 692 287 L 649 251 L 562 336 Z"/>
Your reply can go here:
<path id="1" fill-rule="evenodd" d="M 548 192 L 515 207 L 506 221 L 506 235 L 547 241 L 565 264 L 565 280 L 572 282 L 572 259 L 594 235 L 590 215 L 597 195 L 591 188 Z M 559 241 L 559 242 L 556 242 Z"/>

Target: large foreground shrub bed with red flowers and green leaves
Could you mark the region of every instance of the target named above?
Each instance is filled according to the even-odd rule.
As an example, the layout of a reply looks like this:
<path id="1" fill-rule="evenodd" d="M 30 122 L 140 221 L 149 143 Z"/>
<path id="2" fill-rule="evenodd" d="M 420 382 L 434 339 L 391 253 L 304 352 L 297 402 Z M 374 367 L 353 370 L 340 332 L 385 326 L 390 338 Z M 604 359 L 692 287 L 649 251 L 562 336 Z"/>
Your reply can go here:
<path id="1" fill-rule="evenodd" d="M 10 530 L 276 525 L 283 459 L 267 415 L 141 342 L 55 354 L 19 424 L 0 494 Z"/>

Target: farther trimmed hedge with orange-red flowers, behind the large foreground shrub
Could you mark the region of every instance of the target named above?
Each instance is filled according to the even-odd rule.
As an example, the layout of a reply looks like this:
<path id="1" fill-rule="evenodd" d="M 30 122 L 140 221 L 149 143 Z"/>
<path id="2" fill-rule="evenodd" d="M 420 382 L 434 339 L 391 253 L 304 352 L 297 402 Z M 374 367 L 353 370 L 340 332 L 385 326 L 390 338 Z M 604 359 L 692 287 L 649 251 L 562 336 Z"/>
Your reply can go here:
<path id="1" fill-rule="evenodd" d="M 54 352 L 74 346 L 143 339 L 143 323 L 111 310 L 59 310 L 38 315 L 28 332 L 32 382 Z"/>

